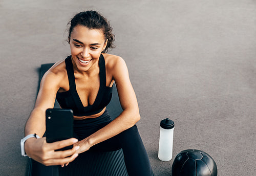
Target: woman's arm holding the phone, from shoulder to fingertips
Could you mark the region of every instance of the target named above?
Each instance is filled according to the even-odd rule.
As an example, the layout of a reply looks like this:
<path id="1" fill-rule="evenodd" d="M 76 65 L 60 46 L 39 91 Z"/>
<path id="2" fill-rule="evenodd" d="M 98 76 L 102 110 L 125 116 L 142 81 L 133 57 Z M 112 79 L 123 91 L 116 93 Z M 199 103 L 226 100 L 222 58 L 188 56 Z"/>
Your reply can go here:
<path id="1" fill-rule="evenodd" d="M 47 108 L 54 106 L 60 80 L 60 76 L 51 71 L 48 71 L 42 78 L 35 107 L 25 126 L 25 136 L 35 133 L 40 137 L 44 135 L 46 130 L 45 112 Z M 72 162 L 77 157 L 75 153 L 77 148 L 56 152 L 54 150 L 76 142 L 77 140 L 74 138 L 54 143 L 47 143 L 45 137 L 30 138 L 25 143 L 25 151 L 29 157 L 44 165 L 63 165 Z"/>

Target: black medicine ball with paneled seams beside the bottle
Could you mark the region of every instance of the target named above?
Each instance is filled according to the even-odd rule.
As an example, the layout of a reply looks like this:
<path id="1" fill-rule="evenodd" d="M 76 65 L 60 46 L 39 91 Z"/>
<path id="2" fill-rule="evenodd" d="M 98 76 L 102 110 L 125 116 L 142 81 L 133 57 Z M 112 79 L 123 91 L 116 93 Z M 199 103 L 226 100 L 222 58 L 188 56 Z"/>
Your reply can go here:
<path id="1" fill-rule="evenodd" d="M 175 157 L 172 176 L 217 176 L 217 165 L 206 152 L 183 150 Z"/>

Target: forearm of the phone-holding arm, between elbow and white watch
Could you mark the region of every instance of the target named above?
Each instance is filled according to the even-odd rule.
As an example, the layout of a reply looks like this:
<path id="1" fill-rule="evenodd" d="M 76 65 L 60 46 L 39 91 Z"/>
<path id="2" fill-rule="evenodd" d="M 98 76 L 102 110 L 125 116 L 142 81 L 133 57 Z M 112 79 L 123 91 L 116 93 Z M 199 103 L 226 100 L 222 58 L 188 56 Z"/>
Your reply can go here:
<path id="1" fill-rule="evenodd" d="M 36 133 L 39 137 L 42 137 L 45 130 L 45 112 L 40 108 L 33 109 L 25 126 L 25 136 Z"/>

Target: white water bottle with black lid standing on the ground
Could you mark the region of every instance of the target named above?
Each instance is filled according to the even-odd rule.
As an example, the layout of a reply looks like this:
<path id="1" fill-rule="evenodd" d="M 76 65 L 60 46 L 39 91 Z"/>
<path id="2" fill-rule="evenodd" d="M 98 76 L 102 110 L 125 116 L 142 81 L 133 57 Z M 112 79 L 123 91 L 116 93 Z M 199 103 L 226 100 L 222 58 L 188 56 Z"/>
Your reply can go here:
<path id="1" fill-rule="evenodd" d="M 173 158 L 174 121 L 164 119 L 160 123 L 158 158 L 169 161 Z"/>

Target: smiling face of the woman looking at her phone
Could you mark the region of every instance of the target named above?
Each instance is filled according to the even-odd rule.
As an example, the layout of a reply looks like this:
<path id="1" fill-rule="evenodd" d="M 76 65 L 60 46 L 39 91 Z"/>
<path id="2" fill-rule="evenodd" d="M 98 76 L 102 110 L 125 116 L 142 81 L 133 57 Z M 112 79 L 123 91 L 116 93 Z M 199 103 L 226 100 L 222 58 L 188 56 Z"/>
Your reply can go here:
<path id="1" fill-rule="evenodd" d="M 106 42 L 100 29 L 89 29 L 81 25 L 74 27 L 70 35 L 73 64 L 80 71 L 88 71 L 97 63 Z"/>

